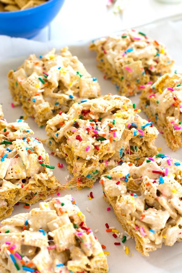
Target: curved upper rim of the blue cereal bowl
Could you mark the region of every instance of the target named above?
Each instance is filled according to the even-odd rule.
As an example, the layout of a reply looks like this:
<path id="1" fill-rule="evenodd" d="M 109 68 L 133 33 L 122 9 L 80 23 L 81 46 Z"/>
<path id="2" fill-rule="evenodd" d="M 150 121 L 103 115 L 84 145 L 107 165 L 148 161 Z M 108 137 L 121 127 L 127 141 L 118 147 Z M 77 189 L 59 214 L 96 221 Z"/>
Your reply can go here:
<path id="1" fill-rule="evenodd" d="M 45 3 L 41 4 L 41 5 L 38 5 L 36 7 L 32 7 L 32 8 L 27 8 L 27 9 L 24 9 L 24 10 L 16 10 L 16 11 L 7 11 L 7 12 L 0 12 L 0 17 L 11 17 L 11 15 L 15 15 L 15 16 L 19 16 L 19 15 L 26 15 L 26 14 L 29 14 L 32 10 L 35 10 L 35 12 L 39 11 L 39 9 L 43 8 L 44 6 L 46 5 L 51 5 L 51 3 L 54 3 L 56 4 L 56 2 L 64 2 L 65 0 L 48 0 L 46 1 Z"/>

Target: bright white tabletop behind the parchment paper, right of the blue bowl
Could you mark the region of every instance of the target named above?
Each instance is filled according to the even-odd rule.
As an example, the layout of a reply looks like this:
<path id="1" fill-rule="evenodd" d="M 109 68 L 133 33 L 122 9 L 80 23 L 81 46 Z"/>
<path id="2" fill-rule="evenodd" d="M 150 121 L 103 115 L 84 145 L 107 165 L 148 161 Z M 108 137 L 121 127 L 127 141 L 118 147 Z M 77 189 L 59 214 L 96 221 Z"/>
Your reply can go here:
<path id="1" fill-rule="evenodd" d="M 163 4 L 156 0 L 126 1 L 123 13 L 114 14 L 106 8 L 107 0 L 65 0 L 55 19 L 34 40 L 61 40 L 64 44 L 71 44 L 182 12 L 182 2 Z"/>

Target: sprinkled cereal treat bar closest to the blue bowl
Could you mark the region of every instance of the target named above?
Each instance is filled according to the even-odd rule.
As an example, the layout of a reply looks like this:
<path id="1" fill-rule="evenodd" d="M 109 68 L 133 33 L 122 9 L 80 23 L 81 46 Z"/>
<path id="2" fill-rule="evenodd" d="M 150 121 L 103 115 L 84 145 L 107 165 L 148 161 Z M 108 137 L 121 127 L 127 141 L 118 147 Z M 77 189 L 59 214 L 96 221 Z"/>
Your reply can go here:
<path id="1" fill-rule="evenodd" d="M 46 124 L 60 111 L 84 98 L 97 98 L 100 86 L 83 63 L 65 47 L 60 55 L 52 49 L 47 55 L 29 56 L 18 70 L 8 73 L 9 89 L 17 104 L 38 125 Z"/>

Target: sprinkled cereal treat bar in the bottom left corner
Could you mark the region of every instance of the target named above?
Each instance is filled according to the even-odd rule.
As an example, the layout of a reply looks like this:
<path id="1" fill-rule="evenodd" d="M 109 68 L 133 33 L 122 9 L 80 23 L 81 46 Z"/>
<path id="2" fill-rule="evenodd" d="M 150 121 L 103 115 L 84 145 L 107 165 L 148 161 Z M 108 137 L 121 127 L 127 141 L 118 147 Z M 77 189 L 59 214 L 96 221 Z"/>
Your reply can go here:
<path id="1" fill-rule="evenodd" d="M 71 195 L 39 206 L 2 221 L 2 273 L 108 272 L 102 247 Z"/>

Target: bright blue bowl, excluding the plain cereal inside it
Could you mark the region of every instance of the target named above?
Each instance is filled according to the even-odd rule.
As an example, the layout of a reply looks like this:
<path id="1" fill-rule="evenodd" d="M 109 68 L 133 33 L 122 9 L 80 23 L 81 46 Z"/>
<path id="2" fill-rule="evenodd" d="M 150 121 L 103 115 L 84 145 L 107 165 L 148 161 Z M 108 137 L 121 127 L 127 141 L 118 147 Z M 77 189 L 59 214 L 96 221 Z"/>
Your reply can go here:
<path id="1" fill-rule="evenodd" d="M 34 8 L 0 12 L 0 34 L 31 39 L 48 25 L 65 0 L 49 0 Z"/>

